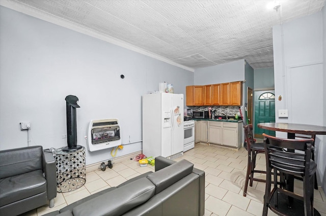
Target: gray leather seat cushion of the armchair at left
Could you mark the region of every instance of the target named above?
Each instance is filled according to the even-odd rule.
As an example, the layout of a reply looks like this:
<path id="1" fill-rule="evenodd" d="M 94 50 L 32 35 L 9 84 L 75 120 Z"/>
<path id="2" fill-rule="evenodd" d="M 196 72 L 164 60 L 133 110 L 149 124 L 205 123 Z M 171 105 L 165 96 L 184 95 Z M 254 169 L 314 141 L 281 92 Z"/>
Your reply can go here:
<path id="1" fill-rule="evenodd" d="M 46 180 L 42 170 L 2 178 L 0 179 L 0 206 L 44 192 L 46 192 Z"/>

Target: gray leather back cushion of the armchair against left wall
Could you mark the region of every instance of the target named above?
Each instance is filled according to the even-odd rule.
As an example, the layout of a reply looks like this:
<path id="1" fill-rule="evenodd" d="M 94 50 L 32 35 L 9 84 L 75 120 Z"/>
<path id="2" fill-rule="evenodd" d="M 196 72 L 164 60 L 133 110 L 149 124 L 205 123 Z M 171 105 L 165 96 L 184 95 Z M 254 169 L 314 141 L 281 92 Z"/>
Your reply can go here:
<path id="1" fill-rule="evenodd" d="M 42 169 L 42 146 L 0 151 L 0 178 Z"/>

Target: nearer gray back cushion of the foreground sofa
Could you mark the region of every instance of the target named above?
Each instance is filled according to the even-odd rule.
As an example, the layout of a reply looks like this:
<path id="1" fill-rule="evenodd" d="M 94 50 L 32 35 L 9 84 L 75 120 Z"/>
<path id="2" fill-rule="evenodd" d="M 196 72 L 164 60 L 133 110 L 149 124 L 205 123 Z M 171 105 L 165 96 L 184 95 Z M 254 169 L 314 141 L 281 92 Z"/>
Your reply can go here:
<path id="1" fill-rule="evenodd" d="M 121 215 L 154 196 L 155 186 L 147 178 L 141 178 L 88 200 L 72 209 L 73 215 Z"/>

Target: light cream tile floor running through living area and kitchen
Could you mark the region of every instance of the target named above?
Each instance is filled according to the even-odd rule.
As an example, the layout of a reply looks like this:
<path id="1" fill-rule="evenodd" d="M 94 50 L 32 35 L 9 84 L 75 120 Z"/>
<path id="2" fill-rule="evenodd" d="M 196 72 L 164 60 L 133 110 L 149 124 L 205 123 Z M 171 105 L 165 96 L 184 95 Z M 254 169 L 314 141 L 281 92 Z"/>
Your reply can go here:
<path id="1" fill-rule="evenodd" d="M 186 151 L 175 161 L 181 159 L 186 159 L 194 163 L 196 168 L 205 171 L 205 216 L 262 215 L 265 183 L 254 181 L 253 187 L 248 187 L 247 197 L 242 196 L 247 168 L 246 149 L 233 150 L 196 144 L 195 148 Z M 265 169 L 264 155 L 257 157 L 257 166 Z M 88 172 L 85 186 L 70 193 L 58 193 L 55 207 L 50 209 L 48 205 L 45 205 L 22 215 L 40 216 L 61 209 L 79 199 L 117 186 L 127 179 L 148 171 L 154 171 L 154 167 L 150 165 L 140 167 L 138 162 L 125 160 L 114 164 L 112 169 Z M 264 178 L 263 175 L 260 177 Z M 302 193 L 302 182 L 295 182 L 294 190 Z M 321 188 L 314 191 L 314 207 L 322 216 L 326 216 L 326 196 Z M 269 210 L 268 215 L 276 214 Z"/>

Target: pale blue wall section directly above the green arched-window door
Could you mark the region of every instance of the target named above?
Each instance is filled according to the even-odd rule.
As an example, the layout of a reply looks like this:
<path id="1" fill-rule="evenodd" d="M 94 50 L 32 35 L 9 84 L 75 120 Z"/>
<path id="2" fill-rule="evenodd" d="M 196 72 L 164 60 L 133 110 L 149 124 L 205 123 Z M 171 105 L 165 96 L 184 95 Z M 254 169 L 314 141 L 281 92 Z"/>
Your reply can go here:
<path id="1" fill-rule="evenodd" d="M 274 68 L 255 69 L 254 74 L 255 89 L 274 89 Z"/>

